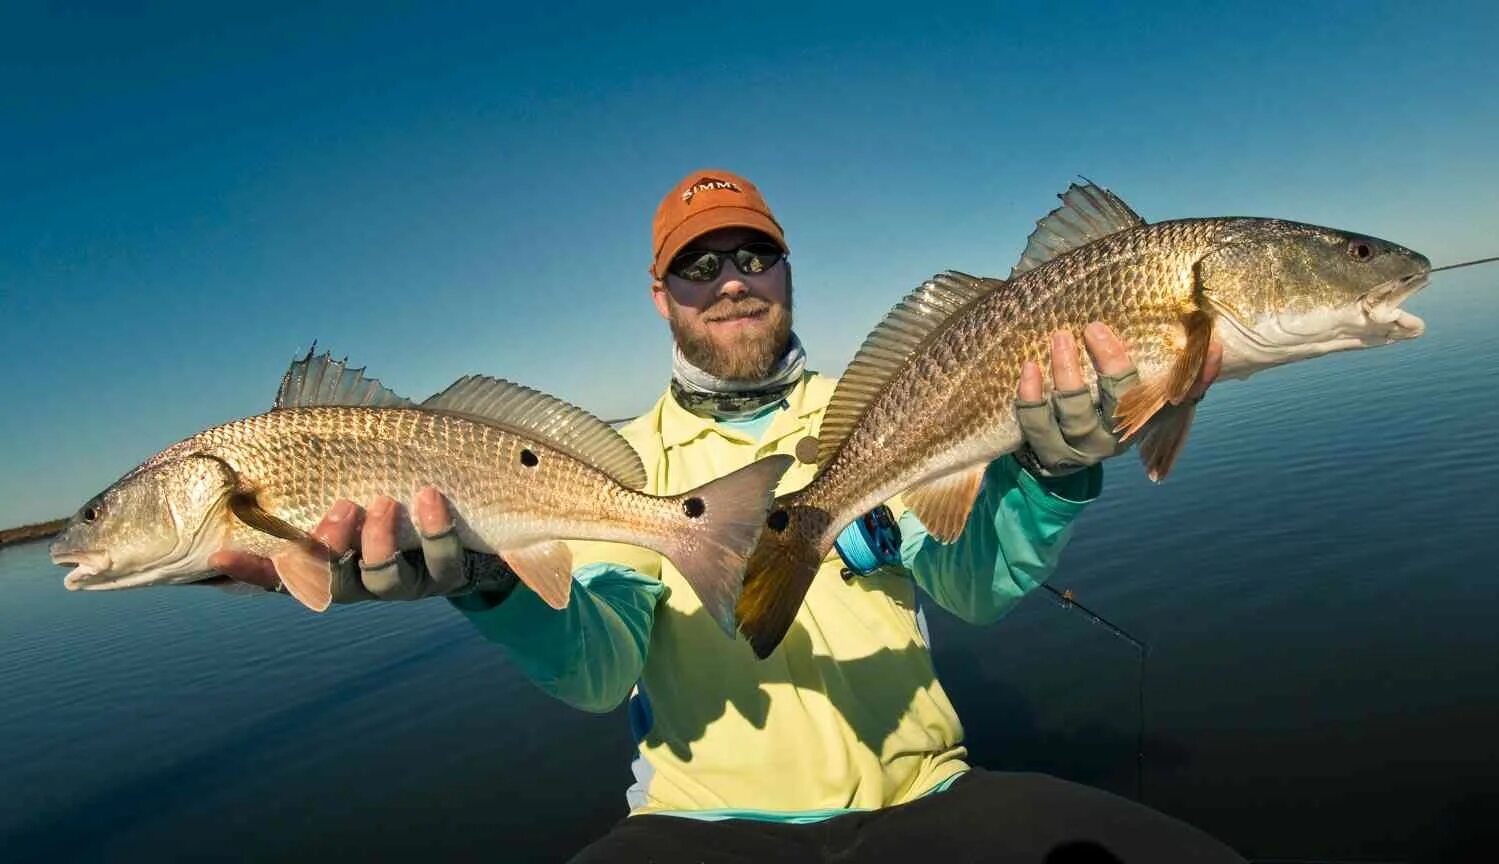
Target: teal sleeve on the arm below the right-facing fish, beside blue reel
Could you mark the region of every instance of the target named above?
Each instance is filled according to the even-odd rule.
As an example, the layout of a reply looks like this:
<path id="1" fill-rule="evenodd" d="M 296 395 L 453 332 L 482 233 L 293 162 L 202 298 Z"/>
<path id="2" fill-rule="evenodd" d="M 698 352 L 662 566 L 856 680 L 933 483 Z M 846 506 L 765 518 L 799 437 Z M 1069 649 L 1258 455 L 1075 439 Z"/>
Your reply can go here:
<path id="1" fill-rule="evenodd" d="M 1073 519 L 1102 486 L 1097 465 L 1040 480 L 1000 458 L 952 543 L 931 537 L 914 513 L 901 516 L 901 560 L 938 606 L 974 624 L 997 621 L 1051 578 Z"/>

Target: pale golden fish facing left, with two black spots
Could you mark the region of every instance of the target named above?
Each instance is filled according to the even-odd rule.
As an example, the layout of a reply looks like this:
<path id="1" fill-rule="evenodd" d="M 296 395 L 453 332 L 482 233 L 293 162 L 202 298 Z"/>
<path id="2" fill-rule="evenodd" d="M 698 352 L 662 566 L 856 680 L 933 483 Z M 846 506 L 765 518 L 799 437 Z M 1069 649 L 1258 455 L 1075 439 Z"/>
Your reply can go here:
<path id="1" fill-rule="evenodd" d="M 331 552 L 309 531 L 322 513 L 340 498 L 409 504 L 433 484 L 463 546 L 502 556 L 550 606 L 571 592 L 564 540 L 631 543 L 676 564 L 732 636 L 748 554 L 790 464 L 769 456 L 681 495 L 648 495 L 634 448 L 561 399 L 466 376 L 417 405 L 309 351 L 276 408 L 147 459 L 84 504 L 51 555 L 73 566 L 69 590 L 105 591 L 208 580 L 211 554 L 252 552 L 321 612 Z M 397 546 L 421 546 L 409 520 Z"/>

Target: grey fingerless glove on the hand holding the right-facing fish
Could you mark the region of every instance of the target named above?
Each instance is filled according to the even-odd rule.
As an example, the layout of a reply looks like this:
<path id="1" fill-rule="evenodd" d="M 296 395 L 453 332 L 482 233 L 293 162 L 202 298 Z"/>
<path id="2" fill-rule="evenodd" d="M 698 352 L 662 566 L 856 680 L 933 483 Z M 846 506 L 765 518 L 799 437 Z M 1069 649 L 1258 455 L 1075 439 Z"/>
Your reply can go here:
<path id="1" fill-rule="evenodd" d="M 1139 375 L 1130 368 L 1123 375 L 1099 375 L 1097 404 L 1087 387 L 1034 402 L 1016 399 L 1024 441 L 1015 460 L 1036 477 L 1066 477 L 1129 450 L 1114 434 L 1114 408 L 1136 384 Z"/>

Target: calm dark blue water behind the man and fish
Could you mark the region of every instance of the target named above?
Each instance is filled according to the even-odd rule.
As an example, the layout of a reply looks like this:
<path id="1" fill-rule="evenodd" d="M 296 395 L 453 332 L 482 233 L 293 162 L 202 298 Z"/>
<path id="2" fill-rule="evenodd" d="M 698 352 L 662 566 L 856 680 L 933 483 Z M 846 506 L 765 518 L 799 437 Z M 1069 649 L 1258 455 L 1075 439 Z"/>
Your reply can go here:
<path id="1" fill-rule="evenodd" d="M 1499 855 L 1492 273 L 1418 298 L 1415 344 L 1216 388 L 1166 484 L 1112 466 L 1054 585 L 1150 645 L 1150 804 L 1255 856 Z M 61 573 L 0 550 L 6 860 L 553 861 L 624 816 L 624 714 L 541 696 L 441 602 Z M 1045 592 L 932 630 L 976 762 L 1133 794 L 1127 642 Z"/>

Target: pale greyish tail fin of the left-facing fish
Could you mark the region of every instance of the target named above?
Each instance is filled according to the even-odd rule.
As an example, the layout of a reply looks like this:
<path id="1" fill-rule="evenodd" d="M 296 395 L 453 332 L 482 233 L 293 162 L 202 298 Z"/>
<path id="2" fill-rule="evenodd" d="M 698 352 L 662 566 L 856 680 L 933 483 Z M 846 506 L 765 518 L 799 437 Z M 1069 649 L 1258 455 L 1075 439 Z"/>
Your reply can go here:
<path id="1" fill-rule="evenodd" d="M 729 636 L 735 634 L 735 603 L 744 586 L 750 550 L 775 502 L 775 484 L 791 462 L 794 459 L 785 454 L 766 456 L 670 498 L 690 530 L 675 531 L 663 552 Z"/>

